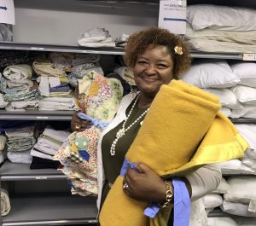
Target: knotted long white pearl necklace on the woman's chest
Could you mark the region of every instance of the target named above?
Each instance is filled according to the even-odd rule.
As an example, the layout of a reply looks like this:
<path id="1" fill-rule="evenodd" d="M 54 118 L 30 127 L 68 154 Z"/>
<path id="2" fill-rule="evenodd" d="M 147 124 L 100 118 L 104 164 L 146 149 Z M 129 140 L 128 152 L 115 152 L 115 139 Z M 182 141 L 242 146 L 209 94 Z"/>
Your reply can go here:
<path id="1" fill-rule="evenodd" d="M 134 101 L 132 107 L 131 107 L 131 110 L 130 112 L 128 113 L 123 125 L 122 125 L 122 128 L 118 130 L 118 132 L 116 133 L 116 136 L 115 136 L 115 139 L 113 140 L 113 143 L 111 145 L 111 148 L 110 148 L 110 154 L 113 156 L 115 154 L 115 146 L 116 146 L 116 143 L 119 141 L 119 139 L 125 135 L 125 132 L 127 130 L 129 130 L 131 128 L 132 125 L 135 125 L 140 119 L 143 118 L 143 116 L 148 113 L 148 110 L 149 110 L 149 107 L 147 108 L 147 110 L 145 110 L 131 125 L 129 125 L 127 128 L 125 128 L 125 124 L 127 122 L 127 119 L 129 119 L 135 105 L 137 104 L 137 101 L 138 101 L 138 98 L 139 98 L 139 95 L 137 96 L 136 100 Z"/>

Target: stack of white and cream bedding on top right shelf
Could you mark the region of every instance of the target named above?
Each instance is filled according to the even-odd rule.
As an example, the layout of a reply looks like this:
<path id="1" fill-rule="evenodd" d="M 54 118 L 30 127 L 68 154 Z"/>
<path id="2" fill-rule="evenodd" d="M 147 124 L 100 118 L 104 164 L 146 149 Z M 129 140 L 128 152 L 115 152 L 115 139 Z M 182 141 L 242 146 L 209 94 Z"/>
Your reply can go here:
<path id="1" fill-rule="evenodd" d="M 256 52 L 256 10 L 200 4 L 187 8 L 186 39 L 206 52 Z"/>

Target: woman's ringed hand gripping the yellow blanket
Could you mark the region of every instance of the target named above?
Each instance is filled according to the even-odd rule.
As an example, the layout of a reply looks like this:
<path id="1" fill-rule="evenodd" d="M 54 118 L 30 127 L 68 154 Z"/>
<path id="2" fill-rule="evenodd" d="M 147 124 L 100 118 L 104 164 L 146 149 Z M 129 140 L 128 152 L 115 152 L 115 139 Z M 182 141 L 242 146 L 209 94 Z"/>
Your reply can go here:
<path id="1" fill-rule="evenodd" d="M 155 201 L 166 200 L 166 183 L 147 165 L 138 164 L 135 169 L 129 168 L 124 177 L 124 192 L 135 200 Z"/>

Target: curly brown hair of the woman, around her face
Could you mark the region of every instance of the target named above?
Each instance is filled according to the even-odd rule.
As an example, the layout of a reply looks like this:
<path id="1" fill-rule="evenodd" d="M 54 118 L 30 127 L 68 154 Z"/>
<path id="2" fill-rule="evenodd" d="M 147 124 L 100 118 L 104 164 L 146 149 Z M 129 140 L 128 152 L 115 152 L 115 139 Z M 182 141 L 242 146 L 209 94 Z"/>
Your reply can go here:
<path id="1" fill-rule="evenodd" d="M 187 44 L 179 36 L 159 27 L 149 27 L 141 32 L 133 33 L 128 38 L 125 46 L 125 63 L 127 67 L 135 67 L 138 55 L 142 55 L 149 45 L 167 46 L 170 55 L 172 55 L 174 78 L 177 79 L 178 75 L 189 69 L 191 58 Z M 175 46 L 182 47 L 182 55 L 175 53 Z"/>

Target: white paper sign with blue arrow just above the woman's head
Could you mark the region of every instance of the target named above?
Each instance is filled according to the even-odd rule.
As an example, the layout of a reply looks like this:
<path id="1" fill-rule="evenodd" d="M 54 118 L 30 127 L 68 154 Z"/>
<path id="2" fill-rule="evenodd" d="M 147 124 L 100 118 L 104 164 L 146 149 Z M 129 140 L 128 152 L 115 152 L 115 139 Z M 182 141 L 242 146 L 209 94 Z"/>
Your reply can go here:
<path id="1" fill-rule="evenodd" d="M 160 0 L 158 26 L 175 34 L 186 34 L 186 0 Z"/>

